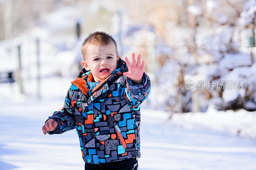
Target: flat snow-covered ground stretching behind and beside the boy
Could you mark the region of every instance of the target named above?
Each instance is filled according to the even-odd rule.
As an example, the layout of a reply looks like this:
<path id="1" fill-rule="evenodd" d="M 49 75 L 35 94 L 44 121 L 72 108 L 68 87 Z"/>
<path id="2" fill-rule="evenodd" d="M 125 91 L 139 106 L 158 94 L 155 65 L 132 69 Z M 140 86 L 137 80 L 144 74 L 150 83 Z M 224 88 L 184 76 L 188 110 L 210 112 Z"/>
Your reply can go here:
<path id="1" fill-rule="evenodd" d="M 44 121 L 62 104 L 25 98 L 0 103 L 0 170 L 84 169 L 75 130 L 42 133 Z M 228 130 L 234 124 L 228 123 L 225 113 L 214 113 L 175 114 L 167 122 L 168 113 L 142 109 L 139 170 L 256 169 L 255 140 L 236 136 Z"/>

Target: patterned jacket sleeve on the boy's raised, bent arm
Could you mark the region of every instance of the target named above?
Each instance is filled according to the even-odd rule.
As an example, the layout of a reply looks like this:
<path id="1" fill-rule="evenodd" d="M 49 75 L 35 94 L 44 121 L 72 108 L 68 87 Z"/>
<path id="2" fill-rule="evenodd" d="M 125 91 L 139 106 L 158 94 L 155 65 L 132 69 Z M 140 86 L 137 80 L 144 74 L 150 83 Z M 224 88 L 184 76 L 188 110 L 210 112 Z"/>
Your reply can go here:
<path id="1" fill-rule="evenodd" d="M 150 79 L 144 72 L 142 76 L 142 83 L 136 84 L 130 78 L 126 78 L 126 86 L 122 95 L 123 100 L 129 106 L 139 106 L 150 93 Z"/>

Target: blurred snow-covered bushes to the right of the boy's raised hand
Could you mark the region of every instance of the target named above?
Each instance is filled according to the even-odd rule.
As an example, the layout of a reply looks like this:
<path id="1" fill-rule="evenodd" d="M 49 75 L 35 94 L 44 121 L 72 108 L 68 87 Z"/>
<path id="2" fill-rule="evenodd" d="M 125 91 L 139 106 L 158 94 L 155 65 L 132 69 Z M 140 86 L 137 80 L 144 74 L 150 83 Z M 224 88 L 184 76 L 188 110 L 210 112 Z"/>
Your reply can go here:
<path id="1" fill-rule="evenodd" d="M 172 29 L 171 34 L 176 34 L 182 45 L 171 45 L 169 60 L 156 73 L 157 90 L 151 94 L 155 107 L 188 112 L 206 111 L 213 104 L 218 110 L 256 110 L 256 2 L 227 2 L 188 4 L 187 15 L 194 16 L 194 25 Z M 229 8 L 223 10 L 223 5 Z M 236 13 L 230 16 L 227 11 L 231 9 Z M 252 32 L 251 48 L 244 48 L 243 42 L 248 40 L 243 37 L 245 32 Z M 186 90 L 187 80 L 194 82 L 193 89 Z"/>

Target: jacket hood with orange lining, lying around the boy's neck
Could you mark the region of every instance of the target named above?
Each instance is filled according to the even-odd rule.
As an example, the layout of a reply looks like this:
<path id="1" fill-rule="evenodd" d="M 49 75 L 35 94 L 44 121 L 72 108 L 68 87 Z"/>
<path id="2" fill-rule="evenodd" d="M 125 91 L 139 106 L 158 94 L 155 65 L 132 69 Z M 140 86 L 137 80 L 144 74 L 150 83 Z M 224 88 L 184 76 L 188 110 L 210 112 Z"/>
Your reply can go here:
<path id="1" fill-rule="evenodd" d="M 126 65 L 126 62 L 120 59 L 118 61 L 116 70 L 113 71 L 104 81 L 101 81 L 100 84 L 98 84 L 93 89 L 93 92 L 96 89 L 99 89 L 101 85 L 104 84 L 106 81 L 113 81 L 116 79 L 116 77 L 123 75 L 124 72 L 128 72 L 128 67 Z M 85 70 L 85 68 L 83 68 L 81 72 L 78 74 L 76 80 L 72 81 L 71 83 L 74 84 L 76 87 L 78 87 L 87 97 L 89 97 L 87 81 L 92 81 L 92 79 L 93 79 L 93 76 L 91 74 L 91 71 L 87 71 Z"/>

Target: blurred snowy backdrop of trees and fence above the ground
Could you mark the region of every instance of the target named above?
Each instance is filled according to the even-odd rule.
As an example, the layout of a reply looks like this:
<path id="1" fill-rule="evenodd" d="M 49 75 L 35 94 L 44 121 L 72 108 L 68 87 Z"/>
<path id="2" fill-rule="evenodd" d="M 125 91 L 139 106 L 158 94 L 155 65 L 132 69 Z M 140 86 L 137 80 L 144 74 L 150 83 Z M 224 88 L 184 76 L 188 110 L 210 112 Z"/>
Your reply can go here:
<path id="1" fill-rule="evenodd" d="M 0 76 L 14 81 L 0 84 L 5 98 L 63 96 L 51 83 L 76 78 L 83 40 L 105 31 L 123 59 L 134 52 L 146 60 L 157 87 L 150 107 L 256 110 L 254 0 L 2 0 L 0 8 Z M 186 90 L 188 79 L 213 81 L 214 89 Z M 218 81 L 244 83 L 241 90 L 227 90 L 217 89 Z M 49 96 L 49 88 L 56 94 Z"/>

